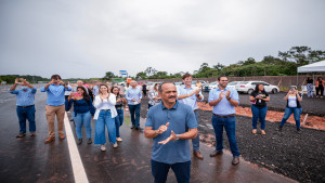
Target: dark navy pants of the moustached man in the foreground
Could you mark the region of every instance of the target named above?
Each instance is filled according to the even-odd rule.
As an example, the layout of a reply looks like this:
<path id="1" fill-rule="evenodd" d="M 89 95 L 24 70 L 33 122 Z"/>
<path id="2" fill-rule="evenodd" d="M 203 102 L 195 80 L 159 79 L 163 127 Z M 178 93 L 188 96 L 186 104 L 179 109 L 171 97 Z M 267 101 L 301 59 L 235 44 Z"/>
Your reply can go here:
<path id="1" fill-rule="evenodd" d="M 178 183 L 188 183 L 191 178 L 191 160 L 186 162 L 178 164 L 164 164 L 152 159 L 152 173 L 155 179 L 155 183 L 165 183 L 169 169 L 172 169 Z"/>

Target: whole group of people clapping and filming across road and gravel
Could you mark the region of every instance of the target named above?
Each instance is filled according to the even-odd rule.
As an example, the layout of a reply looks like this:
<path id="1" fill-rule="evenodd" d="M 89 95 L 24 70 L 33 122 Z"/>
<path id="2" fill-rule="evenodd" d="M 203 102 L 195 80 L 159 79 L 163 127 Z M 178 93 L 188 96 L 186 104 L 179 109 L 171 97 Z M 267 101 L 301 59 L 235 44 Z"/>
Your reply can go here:
<path id="1" fill-rule="evenodd" d="M 155 182 L 166 182 L 168 171 L 171 168 L 178 182 L 190 182 L 191 177 L 191 148 L 188 140 L 192 140 L 193 155 L 204 159 L 199 152 L 199 134 L 197 131 L 199 114 L 197 102 L 204 100 L 200 86 L 192 86 L 192 76 L 182 76 L 183 86 L 177 88 L 171 82 L 156 83 L 148 93 L 148 112 L 145 122 L 144 135 L 153 139 L 152 147 L 152 173 Z M 21 81 L 21 82 L 20 82 Z M 212 106 L 212 127 L 216 133 L 217 146 L 210 157 L 223 154 L 223 129 L 226 132 L 230 148 L 233 155 L 232 165 L 239 164 L 239 149 L 237 147 L 235 129 L 235 107 L 239 104 L 236 90 L 227 88 L 227 77 L 218 78 L 219 86 L 209 93 L 208 103 Z M 321 83 L 321 82 L 318 82 Z M 324 84 L 324 82 L 322 82 Z M 16 87 L 21 84 L 21 90 Z M 101 151 L 106 151 L 105 126 L 108 131 L 109 142 L 117 147 L 117 142 L 122 141 L 119 127 L 123 123 L 123 107 L 128 106 L 132 126 L 131 129 L 140 130 L 140 112 L 142 90 L 132 80 L 127 90 L 118 87 L 109 87 L 98 83 L 93 90 L 78 81 L 72 92 L 72 87 L 63 82 L 58 75 L 51 77 L 51 82 L 41 88 L 47 92 L 48 100 L 46 116 L 48 120 L 49 138 L 46 144 L 55 140 L 54 122 L 57 120 L 57 133 L 61 140 L 64 135 L 65 112 L 74 108 L 73 118 L 76 125 L 77 144 L 82 143 L 81 129 L 84 126 L 87 143 L 91 144 L 91 119 L 95 120 L 94 144 L 101 145 Z M 37 89 L 25 79 L 16 79 L 10 92 L 16 94 L 17 116 L 20 120 L 20 134 L 26 135 L 26 119 L 29 121 L 30 135 L 36 135 L 35 126 L 35 94 Z M 66 93 L 70 92 L 70 93 Z M 65 96 L 66 95 L 66 96 Z M 252 112 L 252 133 L 257 134 L 257 121 L 261 123 L 261 134 L 265 134 L 266 102 L 270 101 L 263 84 L 257 84 L 249 96 Z M 297 130 L 300 131 L 301 96 L 296 88 L 291 88 L 284 100 L 287 101 L 285 115 L 280 123 L 282 130 L 284 123 L 294 113 Z"/>

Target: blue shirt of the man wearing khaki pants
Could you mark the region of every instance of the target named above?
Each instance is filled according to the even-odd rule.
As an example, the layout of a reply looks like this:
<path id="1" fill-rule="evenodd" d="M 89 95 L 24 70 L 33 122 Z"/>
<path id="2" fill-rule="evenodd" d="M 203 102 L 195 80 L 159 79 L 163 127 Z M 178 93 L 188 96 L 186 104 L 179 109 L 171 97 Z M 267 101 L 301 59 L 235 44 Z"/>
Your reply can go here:
<path id="1" fill-rule="evenodd" d="M 48 88 L 48 90 L 46 90 L 46 87 L 41 88 L 41 92 L 48 93 L 47 104 L 51 105 L 51 106 L 60 106 L 60 105 L 64 104 L 64 102 L 65 102 L 64 92 L 65 91 L 72 91 L 72 87 L 68 87 L 68 89 L 66 89 L 62 84 L 56 86 L 56 84 L 52 83 Z"/>

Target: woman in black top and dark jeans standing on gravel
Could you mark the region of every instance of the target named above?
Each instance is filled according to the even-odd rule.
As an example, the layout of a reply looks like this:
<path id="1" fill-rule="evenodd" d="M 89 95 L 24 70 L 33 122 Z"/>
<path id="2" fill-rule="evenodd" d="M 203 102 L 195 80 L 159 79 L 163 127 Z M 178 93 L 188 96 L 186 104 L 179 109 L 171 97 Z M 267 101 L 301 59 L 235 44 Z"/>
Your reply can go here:
<path id="1" fill-rule="evenodd" d="M 255 87 L 253 92 L 251 92 L 249 96 L 249 101 L 251 104 L 251 113 L 252 113 L 252 133 L 257 133 L 257 121 L 260 119 L 261 123 L 261 134 L 265 133 L 265 117 L 268 113 L 266 102 L 270 101 L 269 93 L 265 92 L 264 86 L 262 83 L 258 83 Z"/>

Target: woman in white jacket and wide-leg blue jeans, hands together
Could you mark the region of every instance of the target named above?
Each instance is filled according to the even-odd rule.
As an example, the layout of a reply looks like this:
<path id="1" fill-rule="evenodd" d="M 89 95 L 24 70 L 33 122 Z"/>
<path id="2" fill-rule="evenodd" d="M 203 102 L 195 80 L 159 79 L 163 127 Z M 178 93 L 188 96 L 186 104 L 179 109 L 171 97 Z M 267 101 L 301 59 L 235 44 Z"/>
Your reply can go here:
<path id="1" fill-rule="evenodd" d="M 113 143 L 114 147 L 117 147 L 114 119 L 117 116 L 115 104 L 115 94 L 109 93 L 108 87 L 106 84 L 101 84 L 99 95 L 95 96 L 93 102 L 93 106 L 96 108 L 96 112 L 94 114 L 94 144 L 101 144 L 101 151 L 103 152 L 106 151 L 105 125 L 107 127 L 109 142 Z"/>

